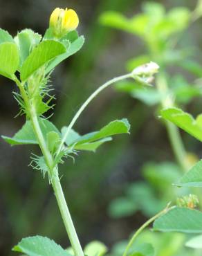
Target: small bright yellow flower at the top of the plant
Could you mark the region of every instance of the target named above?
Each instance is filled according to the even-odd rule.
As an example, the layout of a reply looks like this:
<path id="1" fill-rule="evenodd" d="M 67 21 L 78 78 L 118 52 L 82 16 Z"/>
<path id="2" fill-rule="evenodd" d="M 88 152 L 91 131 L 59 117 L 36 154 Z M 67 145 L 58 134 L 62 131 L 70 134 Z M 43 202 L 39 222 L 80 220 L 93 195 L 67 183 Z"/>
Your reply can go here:
<path id="1" fill-rule="evenodd" d="M 50 15 L 50 28 L 56 37 L 62 37 L 69 31 L 75 30 L 79 24 L 77 13 L 66 8 L 55 8 Z"/>

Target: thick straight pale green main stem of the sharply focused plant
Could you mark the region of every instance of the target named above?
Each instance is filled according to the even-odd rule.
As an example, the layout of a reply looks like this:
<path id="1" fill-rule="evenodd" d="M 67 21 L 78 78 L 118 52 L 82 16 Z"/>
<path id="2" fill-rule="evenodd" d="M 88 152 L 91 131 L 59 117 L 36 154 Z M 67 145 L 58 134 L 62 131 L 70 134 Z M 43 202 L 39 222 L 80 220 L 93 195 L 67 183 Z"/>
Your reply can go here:
<path id="1" fill-rule="evenodd" d="M 75 231 L 75 227 L 73 225 L 73 221 L 71 219 L 71 214 L 68 210 L 68 206 L 66 204 L 66 200 L 64 198 L 64 193 L 62 191 L 62 187 L 59 181 L 58 170 L 57 167 L 53 169 L 53 156 L 50 154 L 48 147 L 46 145 L 46 141 L 44 140 L 44 136 L 42 134 L 42 130 L 39 126 L 39 120 L 37 117 L 37 113 L 35 111 L 35 107 L 29 102 L 28 97 L 26 95 L 26 91 L 24 90 L 24 86 L 17 81 L 17 85 L 21 91 L 21 95 L 24 98 L 26 103 L 26 107 L 28 108 L 30 114 L 30 120 L 33 125 L 33 130 L 35 131 L 35 135 L 37 137 L 39 147 L 42 150 L 44 155 L 46 165 L 48 166 L 49 175 L 51 177 L 50 181 L 53 186 L 53 190 L 55 192 L 55 197 L 57 199 L 57 204 L 59 206 L 60 213 L 62 215 L 62 219 L 64 221 L 64 226 L 66 228 L 66 232 L 71 241 L 71 246 L 75 253 L 75 256 L 84 256 L 82 247 L 80 245 L 80 241 L 77 237 L 77 233 Z"/>

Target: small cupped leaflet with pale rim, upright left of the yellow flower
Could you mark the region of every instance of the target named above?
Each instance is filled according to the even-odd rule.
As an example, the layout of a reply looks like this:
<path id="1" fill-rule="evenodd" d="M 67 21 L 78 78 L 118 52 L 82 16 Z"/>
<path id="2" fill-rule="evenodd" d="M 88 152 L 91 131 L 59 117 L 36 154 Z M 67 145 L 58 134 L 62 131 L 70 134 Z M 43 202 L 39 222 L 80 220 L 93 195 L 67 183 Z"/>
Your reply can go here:
<path id="1" fill-rule="evenodd" d="M 33 48 L 39 44 L 42 39 L 42 35 L 34 33 L 31 29 L 24 29 L 15 37 L 15 42 L 19 47 L 20 53 L 20 68 L 28 55 L 30 55 Z M 19 70 L 20 70 L 19 68 Z"/>

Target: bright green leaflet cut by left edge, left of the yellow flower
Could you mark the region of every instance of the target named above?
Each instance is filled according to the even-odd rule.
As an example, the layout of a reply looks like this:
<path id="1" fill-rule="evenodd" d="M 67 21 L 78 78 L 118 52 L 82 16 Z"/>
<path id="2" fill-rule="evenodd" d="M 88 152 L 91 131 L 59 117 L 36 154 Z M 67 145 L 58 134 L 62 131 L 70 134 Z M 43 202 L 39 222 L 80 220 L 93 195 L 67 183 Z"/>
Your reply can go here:
<path id="1" fill-rule="evenodd" d="M 15 43 L 0 44 L 0 74 L 13 80 L 19 65 L 19 52 Z"/>

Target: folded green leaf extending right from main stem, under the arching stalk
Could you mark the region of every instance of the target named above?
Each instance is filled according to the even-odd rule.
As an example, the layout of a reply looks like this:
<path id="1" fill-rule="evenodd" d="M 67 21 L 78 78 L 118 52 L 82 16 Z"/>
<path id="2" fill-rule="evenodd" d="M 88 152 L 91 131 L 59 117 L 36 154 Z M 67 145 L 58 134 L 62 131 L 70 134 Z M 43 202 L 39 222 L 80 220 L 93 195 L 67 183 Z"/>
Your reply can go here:
<path id="1" fill-rule="evenodd" d="M 64 136 L 67 127 L 62 128 Z M 94 131 L 89 134 L 80 136 L 75 131 L 71 130 L 66 138 L 66 145 L 74 149 L 95 151 L 102 143 L 111 140 L 112 135 L 128 134 L 130 129 L 127 119 L 115 120 L 104 126 L 100 131 Z"/>

